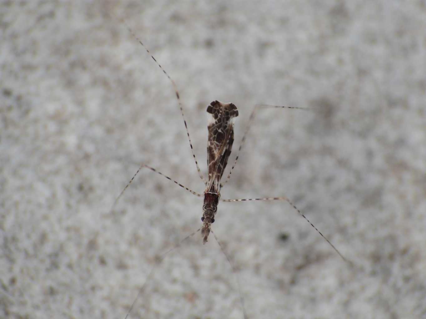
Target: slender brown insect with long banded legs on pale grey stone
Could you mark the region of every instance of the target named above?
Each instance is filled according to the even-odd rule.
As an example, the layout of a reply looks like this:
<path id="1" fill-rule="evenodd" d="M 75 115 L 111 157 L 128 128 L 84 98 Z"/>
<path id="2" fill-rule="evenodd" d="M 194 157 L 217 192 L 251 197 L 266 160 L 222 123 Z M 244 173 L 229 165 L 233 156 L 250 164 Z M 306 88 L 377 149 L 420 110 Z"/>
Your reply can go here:
<path id="1" fill-rule="evenodd" d="M 124 22 L 124 24 L 127 26 L 127 24 L 125 22 Z M 193 145 L 192 145 L 190 134 L 189 134 L 189 131 L 188 131 L 188 128 L 187 128 L 187 122 L 185 120 L 184 111 L 183 111 L 183 108 L 182 108 L 182 103 L 181 103 L 181 99 L 180 99 L 180 95 L 179 95 L 176 83 L 170 77 L 170 75 L 165 71 L 165 69 L 161 66 L 161 64 L 158 63 L 158 61 L 150 53 L 150 51 L 147 49 L 147 47 L 144 45 L 144 43 L 142 43 L 142 41 L 134 34 L 132 29 L 129 26 L 127 26 L 127 29 L 129 30 L 130 34 L 132 34 L 132 36 L 141 44 L 141 46 L 145 49 L 145 51 L 147 51 L 147 53 L 150 55 L 150 57 L 154 60 L 154 62 L 158 65 L 158 67 L 165 74 L 165 76 L 167 76 L 167 78 L 170 80 L 170 82 L 173 85 L 173 89 L 175 91 L 178 106 L 179 106 L 179 109 L 181 111 L 181 116 L 182 116 L 182 119 L 184 121 L 185 130 L 187 132 L 187 137 L 188 137 L 188 141 L 189 141 L 190 148 L 191 148 L 191 151 L 192 151 L 193 159 L 194 159 L 199 177 L 203 180 L 204 185 L 205 185 L 204 194 L 200 194 L 196 191 L 191 190 L 190 188 L 187 188 L 186 186 L 184 186 L 181 183 L 177 182 L 176 180 L 168 177 L 167 175 L 161 173 L 157 169 L 155 169 L 155 168 L 153 168 L 149 165 L 146 165 L 146 164 L 141 164 L 139 166 L 138 170 L 136 171 L 136 173 L 133 175 L 133 177 L 130 179 L 130 181 L 127 183 L 127 185 L 124 187 L 124 189 L 121 191 L 119 196 L 115 199 L 115 202 L 112 205 L 111 211 L 114 209 L 118 200 L 124 194 L 126 189 L 130 186 L 130 184 L 133 182 L 133 180 L 135 179 L 135 177 L 138 175 L 139 171 L 141 171 L 142 168 L 148 168 L 151 171 L 169 179 L 170 181 L 179 185 L 181 188 L 184 188 L 185 190 L 189 191 L 193 195 L 196 195 L 198 197 L 202 197 L 202 196 L 204 197 L 204 200 L 203 200 L 203 216 L 201 217 L 201 222 L 203 224 L 202 224 L 201 228 L 199 228 L 197 231 L 193 232 L 192 234 L 186 236 L 184 239 L 181 240 L 181 242 L 178 245 L 176 245 L 175 247 L 171 248 L 169 251 L 164 253 L 159 260 L 159 262 L 161 262 L 168 253 L 173 251 L 175 248 L 177 248 L 179 245 L 181 245 L 182 242 L 184 242 L 186 239 L 192 237 L 194 234 L 198 233 L 199 231 L 201 231 L 201 236 L 203 238 L 203 244 L 205 244 L 207 242 L 207 239 L 208 239 L 210 232 L 212 232 L 214 238 L 217 241 L 217 238 L 216 238 L 216 236 L 214 235 L 214 233 L 211 229 L 211 225 L 215 222 L 215 215 L 216 215 L 216 212 L 217 212 L 217 206 L 219 204 L 219 199 L 220 199 L 220 196 L 221 196 L 220 190 L 223 187 L 223 185 L 225 185 L 229 181 L 229 179 L 231 177 L 233 169 L 235 168 L 235 165 L 236 165 L 236 163 L 239 159 L 239 153 L 240 153 L 240 151 L 241 151 L 241 149 L 244 145 L 244 142 L 246 140 L 250 126 L 253 124 L 256 112 L 260 109 L 267 109 L 267 108 L 288 108 L 288 109 L 301 109 L 301 110 L 308 110 L 308 109 L 301 108 L 301 107 L 280 106 L 280 105 L 265 105 L 265 104 L 256 105 L 253 108 L 253 111 L 250 114 L 248 124 L 245 128 L 243 137 L 241 139 L 235 161 L 233 162 L 233 165 L 232 165 L 232 167 L 231 167 L 231 169 L 230 169 L 230 171 L 227 175 L 226 180 L 222 184 L 221 179 L 222 179 L 222 176 L 225 172 L 225 168 L 226 168 L 229 156 L 231 154 L 232 145 L 233 145 L 233 142 L 234 142 L 234 120 L 235 120 L 236 117 L 238 117 L 239 113 L 238 113 L 237 107 L 233 103 L 223 103 L 223 102 L 219 102 L 217 100 L 211 102 L 210 105 L 207 106 L 207 112 L 210 113 L 212 117 L 210 118 L 210 121 L 208 122 L 208 125 L 207 125 L 207 128 L 208 128 L 208 143 L 207 143 L 208 177 L 207 177 L 207 179 L 205 179 L 203 177 L 202 173 L 201 173 L 198 161 L 196 159 L 196 156 L 195 156 L 195 153 L 194 153 L 194 150 L 193 150 Z M 246 198 L 246 199 L 222 199 L 222 202 L 242 202 L 242 201 L 253 201 L 253 200 L 255 200 L 255 201 L 276 201 L 277 200 L 277 201 L 288 202 L 297 211 L 297 213 L 300 216 L 302 216 L 322 236 L 322 238 L 325 239 L 328 242 L 329 245 L 331 245 L 331 247 L 334 249 L 334 251 L 336 251 L 339 254 L 339 256 L 345 262 L 349 262 L 337 250 L 337 248 L 314 226 L 314 224 L 312 224 L 308 220 L 308 218 L 306 218 L 306 216 L 304 214 L 302 214 L 302 212 L 296 207 L 296 205 L 294 205 L 294 203 L 291 202 L 291 200 L 288 199 L 285 196 Z M 230 259 L 228 258 L 227 254 L 225 253 L 225 251 L 224 251 L 224 249 L 223 249 L 223 247 L 222 247 L 222 245 L 220 244 L 219 241 L 218 241 L 218 244 L 221 247 L 222 252 L 225 254 L 228 262 L 230 262 Z M 232 265 L 231 265 L 231 267 L 232 267 Z M 154 269 L 147 276 L 147 279 L 146 279 L 144 285 L 140 288 L 140 290 L 138 292 L 138 296 L 136 296 L 135 300 L 133 301 L 133 303 L 132 303 L 132 305 L 131 305 L 131 307 L 130 307 L 127 315 L 126 315 L 126 318 L 129 316 L 130 312 L 132 311 L 132 308 L 135 305 L 136 300 L 138 299 L 138 297 L 141 295 L 142 291 L 144 290 L 144 287 L 145 287 L 146 283 L 148 282 L 148 280 L 150 279 L 150 276 L 153 274 L 153 271 L 154 271 Z M 246 319 L 247 315 L 245 313 L 241 293 L 240 293 L 240 298 L 241 298 L 241 302 L 242 302 L 244 318 Z"/>

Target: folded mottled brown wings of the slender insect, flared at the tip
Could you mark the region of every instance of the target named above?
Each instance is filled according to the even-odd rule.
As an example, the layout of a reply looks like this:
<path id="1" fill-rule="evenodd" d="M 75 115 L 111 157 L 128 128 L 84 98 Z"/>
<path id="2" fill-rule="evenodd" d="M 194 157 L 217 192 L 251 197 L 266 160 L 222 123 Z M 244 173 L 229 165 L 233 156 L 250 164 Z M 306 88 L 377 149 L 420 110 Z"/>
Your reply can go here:
<path id="1" fill-rule="evenodd" d="M 219 193 L 220 179 L 225 171 L 234 142 L 233 118 L 238 116 L 238 110 L 232 103 L 213 101 L 207 107 L 212 114 L 208 129 L 207 165 L 209 177 L 206 191 Z"/>

